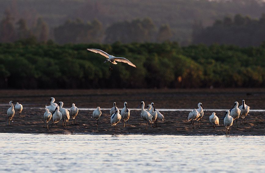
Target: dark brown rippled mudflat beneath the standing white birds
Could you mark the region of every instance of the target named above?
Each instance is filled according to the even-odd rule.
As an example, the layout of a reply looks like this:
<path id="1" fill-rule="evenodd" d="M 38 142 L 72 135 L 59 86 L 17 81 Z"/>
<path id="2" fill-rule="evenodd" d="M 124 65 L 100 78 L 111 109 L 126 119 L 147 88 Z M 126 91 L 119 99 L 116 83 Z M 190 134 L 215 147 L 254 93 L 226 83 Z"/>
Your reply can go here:
<path id="1" fill-rule="evenodd" d="M 203 103 L 206 109 L 227 109 L 229 110 L 234 101 L 241 105 L 242 99 L 246 104 L 254 109 L 264 109 L 265 89 L 241 89 L 241 90 L 1 90 L 0 91 L 0 132 L 2 133 L 47 133 L 47 134 L 116 134 L 115 127 L 110 126 L 109 110 L 102 110 L 102 115 L 98 121 L 92 118 L 93 110 L 80 110 L 76 117 L 76 125 L 70 119 L 65 127 L 62 127 L 62 120 L 56 125 L 49 122 L 47 130 L 46 122 L 43 119 L 45 112 L 44 105 L 51 96 L 55 97 L 56 102 L 64 102 L 64 107 L 70 108 L 72 103 L 77 107 L 92 108 L 111 108 L 113 101 L 116 101 L 120 110 L 123 102 L 128 102 L 128 108 L 136 108 L 141 101 L 150 104 L 154 102 L 156 109 L 190 109 L 197 107 L 197 103 Z M 8 124 L 7 109 L 10 107 L 8 102 L 12 100 L 23 104 L 24 109 L 18 120 L 18 113 L 15 113 L 13 124 Z M 39 108 L 39 107 L 43 108 Z M 146 121 L 140 114 L 141 110 L 131 110 L 129 127 L 127 122 L 123 127 L 123 120 L 117 125 L 117 134 L 152 134 L 152 135 L 225 135 L 226 128 L 221 119 L 224 111 L 215 111 L 219 117 L 219 126 L 213 131 L 213 126 L 209 122 L 209 116 L 213 111 L 204 111 L 204 117 L 200 122 L 195 122 L 194 129 L 187 117 L 190 111 L 160 111 L 165 116 L 165 120 L 158 120 L 157 128 L 146 130 Z M 239 128 L 231 128 L 230 135 L 264 135 L 264 112 L 250 112 L 246 117 L 246 124 L 240 124 Z M 244 119 L 243 119 L 244 123 Z"/>

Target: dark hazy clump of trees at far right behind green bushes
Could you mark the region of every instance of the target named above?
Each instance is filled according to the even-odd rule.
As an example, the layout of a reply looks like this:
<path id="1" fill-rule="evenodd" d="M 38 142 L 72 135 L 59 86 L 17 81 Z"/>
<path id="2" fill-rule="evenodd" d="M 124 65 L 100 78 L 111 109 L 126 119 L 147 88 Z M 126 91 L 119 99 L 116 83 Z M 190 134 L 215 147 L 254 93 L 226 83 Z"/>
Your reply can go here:
<path id="1" fill-rule="evenodd" d="M 193 27 L 193 44 L 212 45 L 233 44 L 241 47 L 259 46 L 265 40 L 265 13 L 259 19 L 236 14 L 234 18 L 225 16 L 215 20 L 210 27 L 195 23 Z"/>

